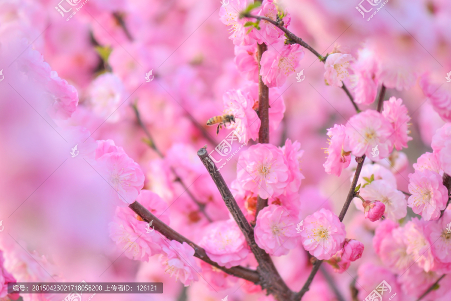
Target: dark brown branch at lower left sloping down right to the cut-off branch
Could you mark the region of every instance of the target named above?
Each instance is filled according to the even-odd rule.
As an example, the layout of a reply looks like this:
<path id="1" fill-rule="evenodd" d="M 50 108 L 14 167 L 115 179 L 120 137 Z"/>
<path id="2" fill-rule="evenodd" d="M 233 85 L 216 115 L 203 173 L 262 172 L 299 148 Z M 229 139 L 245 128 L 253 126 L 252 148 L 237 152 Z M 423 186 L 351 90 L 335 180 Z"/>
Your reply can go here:
<path id="1" fill-rule="evenodd" d="M 255 284 L 260 284 L 260 278 L 259 274 L 249 268 L 242 267 L 242 266 L 234 266 L 232 268 L 225 268 L 223 266 L 218 265 L 216 262 L 211 260 L 205 250 L 201 248 L 200 246 L 196 245 L 183 235 L 179 234 L 172 228 L 170 228 L 168 225 L 163 223 L 160 219 L 158 219 L 155 215 L 153 215 L 149 210 L 147 210 L 144 206 L 142 206 L 138 202 L 133 202 L 128 207 L 130 207 L 131 210 L 133 210 L 137 215 L 139 215 L 144 221 L 150 223 L 152 221 L 152 225 L 154 229 L 158 232 L 160 232 L 162 235 L 164 235 L 169 240 L 176 240 L 180 243 L 186 242 L 194 249 L 194 256 L 205 261 L 206 263 L 217 267 L 218 269 L 222 270 L 225 273 L 228 273 L 229 275 L 234 275 L 240 278 L 244 278 L 248 281 L 254 282 Z"/>

